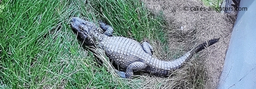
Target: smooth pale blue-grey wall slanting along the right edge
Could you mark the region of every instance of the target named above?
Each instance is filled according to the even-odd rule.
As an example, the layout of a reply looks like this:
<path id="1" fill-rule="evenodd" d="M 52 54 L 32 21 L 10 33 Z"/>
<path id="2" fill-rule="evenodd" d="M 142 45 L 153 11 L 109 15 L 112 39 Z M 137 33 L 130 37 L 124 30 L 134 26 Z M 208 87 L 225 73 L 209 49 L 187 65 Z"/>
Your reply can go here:
<path id="1" fill-rule="evenodd" d="M 256 88 L 256 1 L 241 0 L 219 89 Z"/>

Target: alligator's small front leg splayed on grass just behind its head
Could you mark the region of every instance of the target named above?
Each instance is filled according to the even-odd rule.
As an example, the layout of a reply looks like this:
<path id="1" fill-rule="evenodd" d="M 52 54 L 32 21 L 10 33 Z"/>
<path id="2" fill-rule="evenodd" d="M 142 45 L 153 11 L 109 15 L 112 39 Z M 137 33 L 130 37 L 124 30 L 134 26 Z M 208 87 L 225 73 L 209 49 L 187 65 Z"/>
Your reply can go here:
<path id="1" fill-rule="evenodd" d="M 100 23 L 100 28 L 105 31 L 104 34 L 106 36 L 111 36 L 113 34 L 113 28 L 109 25 L 106 25 L 106 23 L 102 22 L 102 21 L 99 21 Z"/>

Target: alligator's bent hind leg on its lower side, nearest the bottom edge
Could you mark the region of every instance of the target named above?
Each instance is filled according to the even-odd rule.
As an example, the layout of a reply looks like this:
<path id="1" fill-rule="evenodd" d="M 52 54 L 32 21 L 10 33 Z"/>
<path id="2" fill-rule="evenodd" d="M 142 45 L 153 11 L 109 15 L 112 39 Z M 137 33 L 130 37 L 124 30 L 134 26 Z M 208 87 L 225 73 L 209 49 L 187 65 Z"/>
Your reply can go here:
<path id="1" fill-rule="evenodd" d="M 147 64 L 145 64 L 143 62 L 136 61 L 136 62 L 131 63 L 127 67 L 125 72 L 117 71 L 117 74 L 122 78 L 131 78 L 131 76 L 133 75 L 133 72 L 145 70 L 146 67 L 147 67 Z"/>

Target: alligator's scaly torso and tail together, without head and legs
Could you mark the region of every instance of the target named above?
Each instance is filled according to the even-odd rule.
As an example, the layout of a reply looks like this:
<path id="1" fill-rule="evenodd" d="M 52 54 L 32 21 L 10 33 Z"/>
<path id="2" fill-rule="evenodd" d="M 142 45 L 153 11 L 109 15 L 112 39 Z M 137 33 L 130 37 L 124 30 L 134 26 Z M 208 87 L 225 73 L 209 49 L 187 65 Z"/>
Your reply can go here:
<path id="1" fill-rule="evenodd" d="M 195 53 L 218 42 L 218 40 L 211 39 L 204 42 L 173 61 L 161 61 L 154 58 L 143 50 L 139 42 L 126 37 L 105 37 L 100 42 L 100 47 L 105 50 L 111 62 L 117 64 L 121 69 L 126 70 L 131 63 L 140 61 L 147 65 L 145 71 L 156 76 L 165 76 L 180 68 Z"/>

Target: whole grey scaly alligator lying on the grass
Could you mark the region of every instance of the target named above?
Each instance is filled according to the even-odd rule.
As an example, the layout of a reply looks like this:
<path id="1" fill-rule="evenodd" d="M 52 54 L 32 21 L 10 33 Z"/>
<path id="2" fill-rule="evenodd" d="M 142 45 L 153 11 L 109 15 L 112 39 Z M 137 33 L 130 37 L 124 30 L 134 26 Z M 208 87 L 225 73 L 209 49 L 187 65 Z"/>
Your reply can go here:
<path id="1" fill-rule="evenodd" d="M 122 78 L 132 78 L 133 72 L 138 71 L 146 71 L 155 76 L 168 76 L 172 71 L 181 68 L 195 53 L 220 39 L 210 39 L 173 61 L 162 61 L 152 56 L 154 49 L 148 42 L 139 43 L 131 38 L 111 36 L 113 28 L 102 21 L 99 21 L 97 27 L 91 21 L 73 17 L 70 25 L 82 45 L 101 48 L 110 61 L 125 71 L 116 70 Z"/>

